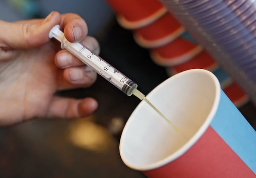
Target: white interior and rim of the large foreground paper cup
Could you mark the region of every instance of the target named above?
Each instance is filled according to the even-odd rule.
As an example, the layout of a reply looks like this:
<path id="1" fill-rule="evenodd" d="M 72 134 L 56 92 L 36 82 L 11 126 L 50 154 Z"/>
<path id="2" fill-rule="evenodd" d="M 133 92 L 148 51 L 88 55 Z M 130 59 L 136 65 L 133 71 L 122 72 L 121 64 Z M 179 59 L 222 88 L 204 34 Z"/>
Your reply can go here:
<path id="1" fill-rule="evenodd" d="M 146 98 L 180 131 L 140 102 L 122 132 L 122 161 L 135 170 L 150 170 L 178 158 L 209 126 L 220 90 L 218 79 L 204 69 L 178 73 L 158 85 Z"/>

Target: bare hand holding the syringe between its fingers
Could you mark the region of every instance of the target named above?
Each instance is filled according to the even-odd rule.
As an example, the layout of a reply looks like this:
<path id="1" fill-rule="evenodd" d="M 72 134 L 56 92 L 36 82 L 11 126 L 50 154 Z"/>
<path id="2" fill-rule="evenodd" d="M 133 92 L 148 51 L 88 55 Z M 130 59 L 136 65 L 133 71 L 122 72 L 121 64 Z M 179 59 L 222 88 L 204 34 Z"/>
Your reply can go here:
<path id="1" fill-rule="evenodd" d="M 86 37 L 87 25 L 76 14 L 52 12 L 46 19 L 8 23 L 0 21 L 0 125 L 33 118 L 77 118 L 90 115 L 95 99 L 55 96 L 58 90 L 88 87 L 96 73 L 48 37 L 55 25 L 70 42 L 85 43 L 99 53 L 99 45 Z"/>

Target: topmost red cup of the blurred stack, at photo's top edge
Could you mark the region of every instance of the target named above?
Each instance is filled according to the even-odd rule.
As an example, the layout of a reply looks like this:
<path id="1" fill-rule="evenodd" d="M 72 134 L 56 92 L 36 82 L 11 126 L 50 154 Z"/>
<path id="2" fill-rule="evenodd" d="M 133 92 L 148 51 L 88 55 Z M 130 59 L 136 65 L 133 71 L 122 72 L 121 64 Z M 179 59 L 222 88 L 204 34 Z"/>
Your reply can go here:
<path id="1" fill-rule="evenodd" d="M 107 0 L 117 13 L 117 20 L 124 28 L 134 29 L 148 25 L 166 13 L 157 0 Z"/>

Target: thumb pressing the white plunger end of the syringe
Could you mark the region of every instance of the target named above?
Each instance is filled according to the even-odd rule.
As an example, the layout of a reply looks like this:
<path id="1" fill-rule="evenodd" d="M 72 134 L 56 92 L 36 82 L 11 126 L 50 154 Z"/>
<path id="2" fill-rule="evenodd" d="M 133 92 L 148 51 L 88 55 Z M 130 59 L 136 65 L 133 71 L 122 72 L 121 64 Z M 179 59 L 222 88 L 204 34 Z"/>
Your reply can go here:
<path id="1" fill-rule="evenodd" d="M 0 44 L 7 48 L 25 49 L 44 45 L 49 41 L 49 31 L 61 22 L 61 15 L 53 11 L 45 19 L 9 23 L 0 21 Z"/>

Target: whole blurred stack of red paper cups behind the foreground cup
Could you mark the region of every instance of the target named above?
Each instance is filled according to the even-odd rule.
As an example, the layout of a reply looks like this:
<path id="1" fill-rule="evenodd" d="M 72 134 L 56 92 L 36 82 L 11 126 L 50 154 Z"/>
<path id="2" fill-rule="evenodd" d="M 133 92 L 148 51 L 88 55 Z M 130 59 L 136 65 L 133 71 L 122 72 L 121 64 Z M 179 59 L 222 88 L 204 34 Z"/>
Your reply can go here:
<path id="1" fill-rule="evenodd" d="M 106 0 L 118 23 L 133 31 L 134 40 L 150 51 L 152 60 L 166 67 L 169 76 L 192 69 L 207 69 L 217 76 L 230 100 L 241 107 L 247 94 L 193 40 L 184 27 L 157 0 Z"/>

